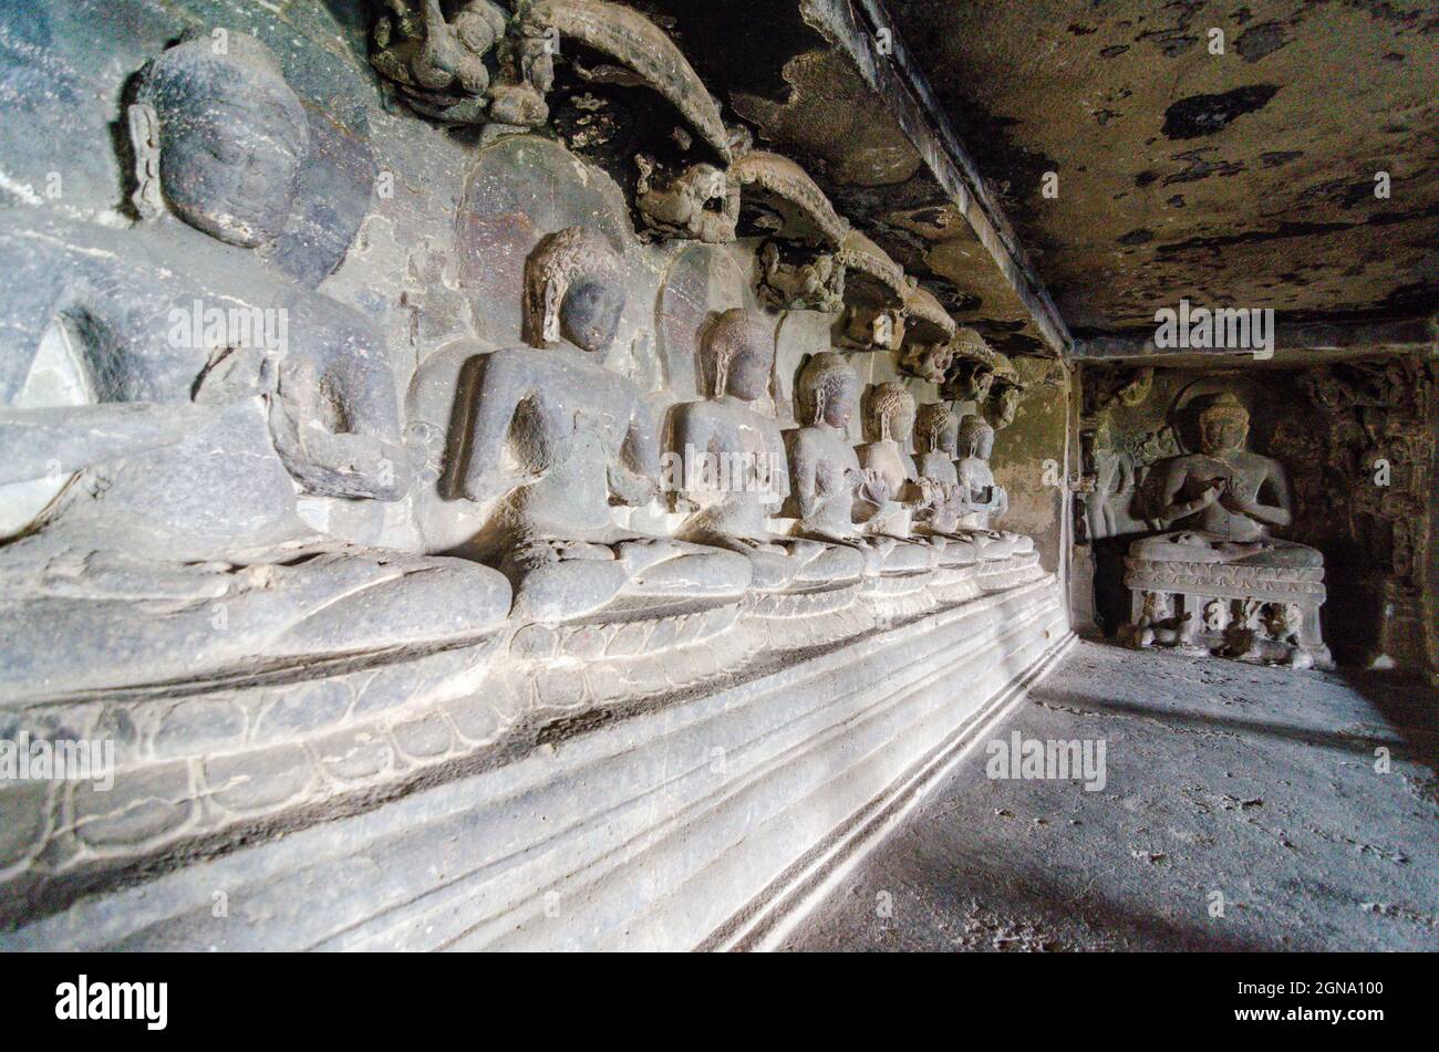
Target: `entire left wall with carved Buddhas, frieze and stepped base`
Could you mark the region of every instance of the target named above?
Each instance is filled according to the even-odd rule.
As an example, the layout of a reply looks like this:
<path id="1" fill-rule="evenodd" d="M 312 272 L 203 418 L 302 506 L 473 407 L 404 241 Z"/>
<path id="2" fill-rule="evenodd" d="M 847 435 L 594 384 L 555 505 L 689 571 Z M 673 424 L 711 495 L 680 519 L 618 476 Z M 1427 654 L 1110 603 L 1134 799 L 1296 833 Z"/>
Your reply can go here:
<path id="1" fill-rule="evenodd" d="M 448 849 L 391 841 L 391 806 L 452 809 L 462 779 L 456 821 L 498 841 L 515 792 L 589 829 L 531 831 L 544 872 L 468 855 L 501 884 L 652 836 L 666 888 L 737 875 L 645 938 L 718 938 L 1068 642 L 1027 415 L 1062 423 L 1065 385 L 961 333 L 636 9 L 331 7 L 0 13 L 0 739 L 109 757 L 6 769 L 3 938 L 65 944 L 42 917 L 165 874 L 161 941 L 210 941 L 194 859 L 347 815 L 425 894 Z M 954 391 L 957 364 L 989 382 Z M 935 469 L 974 516 L 938 536 L 911 425 L 953 394 L 990 423 Z M 712 720 L 770 823 L 744 852 L 724 763 L 663 789 L 705 739 L 675 729 Z M 591 765 L 633 750 L 655 778 Z M 341 938 L 390 891 L 233 944 Z M 630 905 L 596 908 L 532 941 Z"/>

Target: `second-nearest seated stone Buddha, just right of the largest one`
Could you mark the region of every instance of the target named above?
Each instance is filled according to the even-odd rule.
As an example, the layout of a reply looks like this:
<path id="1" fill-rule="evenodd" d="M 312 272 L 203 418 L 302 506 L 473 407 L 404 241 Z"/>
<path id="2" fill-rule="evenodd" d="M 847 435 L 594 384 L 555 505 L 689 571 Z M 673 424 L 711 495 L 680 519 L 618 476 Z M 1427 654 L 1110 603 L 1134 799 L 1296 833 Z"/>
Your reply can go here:
<path id="1" fill-rule="evenodd" d="M 495 503 L 489 555 L 518 617 L 561 621 L 622 595 L 732 596 L 751 562 L 732 550 L 613 523 L 610 504 L 659 493 L 659 446 L 639 389 L 607 369 L 625 310 L 617 252 L 587 227 L 545 237 L 525 264 L 527 348 L 481 359 L 459 494 Z"/>

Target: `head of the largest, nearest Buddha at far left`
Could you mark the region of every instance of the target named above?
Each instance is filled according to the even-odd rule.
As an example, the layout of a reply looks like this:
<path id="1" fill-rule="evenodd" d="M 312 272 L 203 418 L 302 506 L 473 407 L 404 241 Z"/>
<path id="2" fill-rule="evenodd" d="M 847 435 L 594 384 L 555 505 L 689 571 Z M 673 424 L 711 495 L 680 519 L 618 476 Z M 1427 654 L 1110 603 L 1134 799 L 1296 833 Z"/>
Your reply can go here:
<path id="1" fill-rule="evenodd" d="M 309 125 L 259 40 L 229 33 L 176 45 L 145 66 L 128 116 L 142 217 L 168 203 L 197 230 L 245 247 L 285 229 Z"/>

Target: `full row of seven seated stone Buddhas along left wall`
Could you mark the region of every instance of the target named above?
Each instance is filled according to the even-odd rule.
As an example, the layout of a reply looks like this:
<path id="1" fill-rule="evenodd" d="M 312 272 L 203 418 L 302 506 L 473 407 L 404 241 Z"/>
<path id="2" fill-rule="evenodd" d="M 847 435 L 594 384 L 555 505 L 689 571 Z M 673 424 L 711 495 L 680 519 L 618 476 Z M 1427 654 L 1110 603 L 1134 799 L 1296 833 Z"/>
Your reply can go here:
<path id="1" fill-rule="evenodd" d="M 981 418 L 922 407 L 915 463 L 902 446 L 912 402 L 881 385 L 871 441 L 849 444 L 861 391 L 839 354 L 806 364 L 803 425 L 781 435 L 754 410 L 773 336 L 744 312 L 704 339 L 707 398 L 661 427 L 599 361 L 626 283 L 616 249 L 581 227 L 528 260 L 525 346 L 476 362 L 440 483 L 492 506 L 466 558 L 342 540 L 308 504 L 403 509 L 426 483 L 377 326 L 268 254 L 305 206 L 304 108 L 239 33 L 224 50 L 207 37 L 168 49 L 131 98 L 138 223 L 0 216 L 7 683 L 63 693 L 258 655 L 430 645 L 512 608 L 553 619 L 630 594 L 737 595 L 1030 546 L 987 529 L 1006 499 Z M 223 303 L 229 329 L 212 336 L 201 303 Z M 236 312 L 288 319 L 288 339 L 235 339 Z M 63 389 L 37 381 L 66 371 Z M 662 454 L 686 447 L 773 453 L 781 470 L 764 493 L 679 487 L 672 536 L 622 530 L 613 506 L 652 503 Z"/>

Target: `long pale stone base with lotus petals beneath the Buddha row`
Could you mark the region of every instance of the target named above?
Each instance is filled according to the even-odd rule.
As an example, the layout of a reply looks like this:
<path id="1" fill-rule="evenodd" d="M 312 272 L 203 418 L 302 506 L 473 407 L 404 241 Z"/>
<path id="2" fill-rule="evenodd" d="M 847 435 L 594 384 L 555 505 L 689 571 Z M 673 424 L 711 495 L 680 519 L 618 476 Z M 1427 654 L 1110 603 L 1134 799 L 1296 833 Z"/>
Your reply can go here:
<path id="1" fill-rule="evenodd" d="M 558 629 L 522 625 L 478 644 L 390 664 L 321 670 L 308 680 L 72 700 L 10 713 L 10 737 L 22 730 L 32 737 L 112 737 L 117 755 L 115 785 L 108 792 L 85 782 L 0 786 L 6 815 L 0 927 L 66 907 L 85 890 L 105 894 L 75 905 L 72 915 L 92 908 L 124 911 L 128 907 L 119 904 L 141 888 L 121 888 L 174 872 L 158 885 L 151 882 L 155 895 L 147 901 L 168 911 L 168 920 L 148 933 L 138 921 L 127 934 L 121 928 L 128 921 L 117 928 L 108 923 L 72 928 L 56 918 L 0 934 L 0 946 L 60 946 L 82 930 L 115 946 L 135 940 L 209 944 L 212 936 L 194 927 L 203 923 L 199 914 L 190 915 L 190 897 L 203 885 L 206 903 L 214 888 L 229 890 L 233 901 L 242 892 L 232 881 L 249 878 L 201 871 L 212 865 L 249 871 L 259 855 L 240 848 L 282 832 L 288 835 L 259 851 L 278 852 L 281 869 L 309 888 L 325 881 L 309 884 L 299 871 L 321 855 L 348 867 L 347 885 L 351 878 L 384 882 L 389 872 L 389 880 L 409 887 L 406 900 L 423 897 L 440 872 L 462 877 L 472 871 L 471 861 L 489 865 L 479 862 L 482 857 L 499 867 L 496 888 L 518 892 L 524 884 L 525 895 L 543 895 L 551 884 L 578 888 L 594 877 L 586 875 L 583 864 L 590 854 L 597 852 L 600 869 L 623 868 L 642 842 L 681 835 L 673 823 L 691 799 L 704 813 L 712 809 L 714 818 L 684 819 L 694 836 L 704 838 L 694 842 L 707 845 L 685 864 L 698 865 L 709 852 L 734 882 L 725 894 L 711 888 L 682 895 L 696 913 L 684 938 L 676 936 L 671 944 L 698 940 L 837 821 L 836 798 L 812 799 L 814 788 L 794 783 L 796 776 L 804 780 L 827 772 L 825 779 L 843 778 L 835 765 L 845 757 L 845 765 L 861 765 L 863 792 L 878 793 L 934 747 L 945 727 L 1003 690 L 1009 670 L 1032 665 L 1068 632 L 1058 585 L 1032 560 L 966 568 L 945 579 L 921 576 L 924 582 L 909 582 L 918 586 L 889 595 L 853 585 L 750 596 L 661 617 L 635 612 L 626 618 L 623 611 L 610 611 L 604 622 Z M 957 694 L 958 681 L 966 688 Z M 737 713 L 732 720 L 731 710 Z M 871 744 L 861 747 L 861 737 L 848 746 L 825 740 L 825 729 L 845 727 L 846 716 L 862 726 L 842 734 L 863 740 L 873 734 Z M 800 732 L 806 721 L 809 730 Z M 858 759 L 871 747 L 892 755 Z M 584 757 L 600 766 L 590 767 Z M 734 766 L 728 776 L 709 776 L 711 763 Z M 666 770 L 688 779 L 684 790 L 665 788 Z M 645 789 L 652 780 L 653 788 Z M 453 806 L 471 792 L 460 788 L 468 783 L 478 795 L 456 812 Z M 646 796 L 650 792 L 659 795 Z M 747 855 L 730 854 L 732 838 L 725 829 L 734 821 L 731 800 L 745 792 L 758 792 L 776 815 L 790 812 L 799 825 L 786 825 L 789 834 L 757 846 L 760 854 L 751 861 L 763 865 L 740 880 L 730 869 L 744 869 L 748 864 L 740 859 Z M 517 802 L 514 793 L 528 802 Z M 430 828 L 419 815 L 401 816 L 401 811 L 416 805 L 423 811 L 432 805 L 422 799 L 440 796 L 450 800 L 440 805 L 450 813 L 440 825 L 455 821 L 468 832 L 456 828 L 423 846 L 440 826 Z M 853 806 L 862 802 L 856 798 Z M 521 816 L 528 816 L 522 829 L 511 828 Z M 548 825 L 544 816 L 551 818 Z M 586 831 L 578 834 L 583 845 L 561 846 L 551 839 L 566 836 L 554 821 L 558 816 Z M 353 832 L 351 823 L 370 832 Z M 534 841 L 535 858 L 522 858 L 515 835 Z M 296 836 L 353 845 L 354 852 L 342 848 L 347 861 L 341 864 L 328 849 L 317 855 L 301 848 Z M 368 836 L 380 839 L 364 846 Z M 602 849 L 609 836 L 617 839 Z M 409 845 L 400 846 L 401 841 Z M 547 841 L 550 846 L 543 846 Z M 622 845 L 629 846 L 620 851 Z M 512 855 L 507 854 L 511 848 Z M 672 849 L 679 851 L 666 848 Z M 220 858 L 193 864 L 212 855 Z M 361 858 L 367 861 L 360 864 Z M 545 869 L 550 864 L 543 858 L 551 858 L 554 868 Z M 540 869 L 532 869 L 537 861 Z M 665 865 L 682 861 L 675 855 Z M 655 872 L 643 859 L 635 865 Z M 636 868 L 635 878 L 639 874 Z M 190 890 L 176 891 L 180 885 Z M 289 880 L 276 871 L 256 877 L 243 894 L 283 895 L 286 887 Z M 307 898 L 305 910 L 317 910 L 314 924 L 289 928 L 281 923 L 299 908 L 299 900 L 275 913 L 265 907 L 252 914 L 246 907 L 246 915 L 269 915 L 273 926 L 242 926 L 224 937 L 226 944 L 279 947 L 350 938 L 341 934 L 350 926 L 338 913 Z M 627 905 L 606 908 L 645 910 L 658 901 L 623 898 Z M 380 887 L 351 887 L 344 900 L 348 905 L 337 901 L 332 908 L 366 911 L 377 924 L 393 907 L 390 892 Z M 479 901 L 473 905 L 479 908 Z M 514 908 L 521 908 L 518 900 Z M 203 914 L 210 915 L 209 905 Z M 661 931 L 663 926 L 636 938 L 653 943 Z M 426 938 L 410 933 L 400 941 Z M 607 937 L 596 938 L 599 944 Z M 550 937 L 535 934 L 531 941 L 544 944 Z"/>

